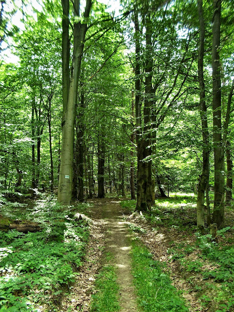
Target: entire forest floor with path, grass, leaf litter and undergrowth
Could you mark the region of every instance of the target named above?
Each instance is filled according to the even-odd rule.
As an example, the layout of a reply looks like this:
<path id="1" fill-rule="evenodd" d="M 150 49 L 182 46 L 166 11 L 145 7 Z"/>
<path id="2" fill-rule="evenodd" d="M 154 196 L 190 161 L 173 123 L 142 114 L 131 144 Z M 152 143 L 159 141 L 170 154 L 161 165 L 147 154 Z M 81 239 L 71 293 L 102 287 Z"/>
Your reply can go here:
<path id="1" fill-rule="evenodd" d="M 72 214 L 64 217 L 51 215 L 58 209 L 54 197 L 45 196 L 36 206 L 31 200 L 24 203 L 24 217 L 35 221 L 36 216 L 44 230 L 3 232 L 0 278 L 8 282 L 0 286 L 0 311 L 8 311 L 1 310 L 4 300 L 10 309 L 17 307 L 22 292 L 29 293 L 36 310 L 20 301 L 14 311 L 234 312 L 232 207 L 226 208 L 226 228 L 218 231 L 214 244 L 208 229 L 204 235 L 197 233 L 193 195 L 157 198 L 152 211 L 143 215 L 134 213 L 135 205 L 126 198 L 95 198 L 74 204 Z M 1 213 L 19 219 L 22 207 L 16 207 L 12 203 Z M 136 244 L 142 248 L 137 256 Z M 148 264 L 143 264 L 144 256 Z M 136 259 L 143 265 L 138 272 Z M 143 276 L 142 270 L 149 275 Z M 168 291 L 164 284 L 174 288 Z"/>

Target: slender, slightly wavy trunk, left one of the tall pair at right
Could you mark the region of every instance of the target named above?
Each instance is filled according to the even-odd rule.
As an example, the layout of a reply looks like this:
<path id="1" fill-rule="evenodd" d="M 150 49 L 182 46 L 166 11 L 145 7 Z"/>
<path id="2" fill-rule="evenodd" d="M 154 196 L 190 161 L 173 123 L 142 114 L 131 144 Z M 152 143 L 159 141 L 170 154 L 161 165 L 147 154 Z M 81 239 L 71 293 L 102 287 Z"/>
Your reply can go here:
<path id="1" fill-rule="evenodd" d="M 204 59 L 204 39 L 205 39 L 205 26 L 203 18 L 203 7 L 202 0 L 197 0 L 198 17 L 199 17 L 199 50 L 198 50 L 198 81 L 200 91 L 200 116 L 201 116 L 201 131 L 202 131 L 202 173 L 199 176 L 198 187 L 197 187 L 197 227 L 203 232 L 205 226 L 204 219 L 204 200 L 205 192 L 206 196 L 209 197 L 209 176 L 210 176 L 210 163 L 209 163 L 209 132 L 207 122 L 207 108 L 205 102 L 205 83 L 203 76 L 203 59 Z M 208 201 L 207 201 L 208 202 Z M 210 206 L 207 207 L 210 210 Z M 209 215 L 209 213 L 208 213 Z M 208 225 L 210 223 L 208 216 Z"/>

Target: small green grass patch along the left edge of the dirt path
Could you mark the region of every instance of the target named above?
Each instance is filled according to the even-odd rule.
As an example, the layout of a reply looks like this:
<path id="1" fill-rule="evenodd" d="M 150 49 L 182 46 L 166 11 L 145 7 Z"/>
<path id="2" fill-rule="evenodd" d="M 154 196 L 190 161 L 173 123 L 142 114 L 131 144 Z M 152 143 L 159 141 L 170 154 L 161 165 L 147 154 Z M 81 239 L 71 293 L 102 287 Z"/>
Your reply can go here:
<path id="1" fill-rule="evenodd" d="M 106 255 L 106 261 L 110 261 L 111 254 Z M 116 270 L 114 266 L 104 266 L 96 280 L 96 294 L 92 296 L 91 312 L 117 312 L 120 310 L 118 303 L 119 286 L 116 282 Z"/>

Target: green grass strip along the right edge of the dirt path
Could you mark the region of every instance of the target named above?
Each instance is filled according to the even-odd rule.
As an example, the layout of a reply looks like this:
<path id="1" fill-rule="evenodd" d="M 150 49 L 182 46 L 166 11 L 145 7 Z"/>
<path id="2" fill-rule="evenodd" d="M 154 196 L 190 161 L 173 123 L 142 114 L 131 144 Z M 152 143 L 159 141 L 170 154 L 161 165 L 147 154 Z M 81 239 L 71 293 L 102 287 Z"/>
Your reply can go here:
<path id="1" fill-rule="evenodd" d="M 132 266 L 140 311 L 189 311 L 161 264 L 137 241 L 133 242 Z"/>

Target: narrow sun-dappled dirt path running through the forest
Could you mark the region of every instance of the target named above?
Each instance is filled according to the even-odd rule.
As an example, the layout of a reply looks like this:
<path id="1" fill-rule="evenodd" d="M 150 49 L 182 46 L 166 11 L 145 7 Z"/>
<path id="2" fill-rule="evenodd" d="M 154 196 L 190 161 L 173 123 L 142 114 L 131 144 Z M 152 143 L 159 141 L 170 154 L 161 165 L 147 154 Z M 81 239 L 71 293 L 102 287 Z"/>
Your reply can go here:
<path id="1" fill-rule="evenodd" d="M 120 201 L 113 198 L 95 200 L 94 212 L 103 219 L 106 229 L 106 251 L 114 255 L 112 264 L 117 267 L 117 283 L 120 286 L 121 312 L 137 312 L 136 295 L 131 274 L 131 235 L 121 220 Z M 98 210 L 97 210 L 98 208 Z"/>

